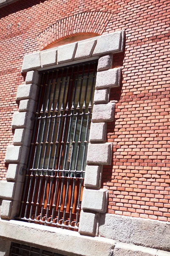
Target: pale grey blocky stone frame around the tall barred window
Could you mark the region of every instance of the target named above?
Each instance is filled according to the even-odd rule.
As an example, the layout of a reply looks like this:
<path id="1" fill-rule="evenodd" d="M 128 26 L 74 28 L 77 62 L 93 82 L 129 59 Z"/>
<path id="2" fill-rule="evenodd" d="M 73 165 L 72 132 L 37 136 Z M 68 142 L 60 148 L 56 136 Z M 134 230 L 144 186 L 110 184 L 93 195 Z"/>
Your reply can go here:
<path id="1" fill-rule="evenodd" d="M 110 89 L 119 87 L 122 72 L 121 68 L 112 69 L 113 53 L 123 51 L 124 36 L 125 32 L 121 30 L 24 56 L 22 72 L 26 73 L 26 80 L 17 90 L 16 100 L 20 101 L 20 105 L 19 110 L 14 112 L 11 125 L 15 129 L 14 140 L 13 145 L 7 146 L 6 180 L 0 182 L 2 219 L 14 218 L 20 208 L 25 177 L 23 169 L 28 159 L 34 125 L 32 117 L 36 110 L 40 83 L 38 71 L 98 59 L 79 222 L 81 235 L 98 235 L 99 214 L 106 212 L 108 198 L 108 190 L 101 189 L 102 166 L 111 165 L 113 148 L 112 143 L 106 143 L 107 122 L 113 121 L 115 111 L 115 103 L 109 102 Z"/>

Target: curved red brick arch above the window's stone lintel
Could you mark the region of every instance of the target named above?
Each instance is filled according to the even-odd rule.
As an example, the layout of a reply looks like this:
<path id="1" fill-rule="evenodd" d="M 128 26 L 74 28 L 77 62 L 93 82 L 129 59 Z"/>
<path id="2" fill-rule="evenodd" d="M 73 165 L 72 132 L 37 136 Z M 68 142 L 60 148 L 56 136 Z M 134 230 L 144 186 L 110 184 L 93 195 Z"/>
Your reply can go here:
<path id="1" fill-rule="evenodd" d="M 82 12 L 58 20 L 37 36 L 39 49 L 76 35 L 101 35 L 111 21 L 109 12 Z"/>

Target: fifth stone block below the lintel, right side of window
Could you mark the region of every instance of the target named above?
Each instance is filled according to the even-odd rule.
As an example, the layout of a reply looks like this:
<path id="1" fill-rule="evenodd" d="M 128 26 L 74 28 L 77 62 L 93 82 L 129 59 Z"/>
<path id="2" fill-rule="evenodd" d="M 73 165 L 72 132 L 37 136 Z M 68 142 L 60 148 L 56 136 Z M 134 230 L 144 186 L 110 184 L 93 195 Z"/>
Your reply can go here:
<path id="1" fill-rule="evenodd" d="M 91 123 L 90 142 L 105 142 L 106 141 L 106 122 Z"/>

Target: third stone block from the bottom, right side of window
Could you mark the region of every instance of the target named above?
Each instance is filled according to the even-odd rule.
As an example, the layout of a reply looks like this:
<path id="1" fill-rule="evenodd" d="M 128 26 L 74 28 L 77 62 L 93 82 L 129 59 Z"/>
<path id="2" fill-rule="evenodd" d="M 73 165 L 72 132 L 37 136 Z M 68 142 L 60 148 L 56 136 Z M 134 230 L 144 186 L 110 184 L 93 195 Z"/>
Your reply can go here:
<path id="1" fill-rule="evenodd" d="M 100 189 L 102 166 L 86 166 L 84 185 L 86 188 Z"/>

